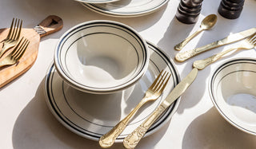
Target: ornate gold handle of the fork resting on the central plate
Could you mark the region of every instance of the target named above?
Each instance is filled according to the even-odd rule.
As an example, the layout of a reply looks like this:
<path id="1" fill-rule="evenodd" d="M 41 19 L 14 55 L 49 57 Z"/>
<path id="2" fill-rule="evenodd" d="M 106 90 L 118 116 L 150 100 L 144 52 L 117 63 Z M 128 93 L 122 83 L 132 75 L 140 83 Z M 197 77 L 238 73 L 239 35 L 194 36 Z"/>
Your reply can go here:
<path id="1" fill-rule="evenodd" d="M 98 143 L 103 148 L 111 147 L 114 144 L 114 140 L 117 139 L 118 135 L 122 133 L 122 131 L 126 128 L 130 119 L 138 112 L 138 109 L 142 107 L 143 104 L 146 103 L 146 97 L 144 97 L 141 102 L 115 127 L 113 127 L 109 132 L 99 139 Z"/>

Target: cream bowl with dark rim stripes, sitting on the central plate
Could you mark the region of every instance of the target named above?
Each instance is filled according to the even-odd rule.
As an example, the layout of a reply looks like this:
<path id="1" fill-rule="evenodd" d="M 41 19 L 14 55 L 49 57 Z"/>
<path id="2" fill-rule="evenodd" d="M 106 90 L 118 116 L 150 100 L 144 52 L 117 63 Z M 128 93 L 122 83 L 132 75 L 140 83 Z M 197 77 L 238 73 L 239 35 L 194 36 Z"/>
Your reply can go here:
<path id="1" fill-rule="evenodd" d="M 67 83 L 82 92 L 118 92 L 139 80 L 150 60 L 146 41 L 119 22 L 91 21 L 62 35 L 54 65 Z"/>

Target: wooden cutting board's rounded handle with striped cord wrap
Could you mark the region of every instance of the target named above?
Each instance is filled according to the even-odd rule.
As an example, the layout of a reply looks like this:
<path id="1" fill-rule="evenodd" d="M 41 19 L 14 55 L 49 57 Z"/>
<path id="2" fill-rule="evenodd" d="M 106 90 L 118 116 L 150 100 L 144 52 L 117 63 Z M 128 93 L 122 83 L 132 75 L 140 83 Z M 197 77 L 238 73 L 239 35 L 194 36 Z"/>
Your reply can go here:
<path id="1" fill-rule="evenodd" d="M 41 23 L 34 27 L 34 30 L 40 35 L 40 37 L 44 37 L 50 33 L 57 32 L 59 29 L 62 29 L 63 21 L 62 18 L 59 18 L 55 15 L 50 15 L 45 18 Z"/>

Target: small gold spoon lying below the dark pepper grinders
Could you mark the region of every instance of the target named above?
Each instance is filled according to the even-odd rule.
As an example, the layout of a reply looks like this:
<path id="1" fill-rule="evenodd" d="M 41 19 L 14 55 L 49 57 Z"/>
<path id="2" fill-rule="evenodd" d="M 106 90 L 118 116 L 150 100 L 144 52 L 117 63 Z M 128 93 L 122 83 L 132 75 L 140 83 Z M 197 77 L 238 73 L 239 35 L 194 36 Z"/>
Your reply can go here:
<path id="1" fill-rule="evenodd" d="M 191 39 L 196 37 L 199 33 L 201 33 L 203 30 L 211 29 L 217 22 L 217 15 L 216 14 L 210 14 L 206 16 L 201 22 L 200 29 L 198 29 L 196 32 L 194 32 L 192 35 L 187 37 L 184 41 L 179 43 L 178 45 L 174 46 L 174 49 L 181 50 Z"/>

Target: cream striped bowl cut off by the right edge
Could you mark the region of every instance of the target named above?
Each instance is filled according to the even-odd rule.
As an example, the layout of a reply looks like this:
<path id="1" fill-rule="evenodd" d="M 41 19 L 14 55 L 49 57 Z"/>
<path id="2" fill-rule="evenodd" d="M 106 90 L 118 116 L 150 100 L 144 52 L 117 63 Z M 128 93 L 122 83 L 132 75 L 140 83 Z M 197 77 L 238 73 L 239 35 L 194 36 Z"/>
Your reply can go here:
<path id="1" fill-rule="evenodd" d="M 210 77 L 210 96 L 230 124 L 256 135 L 256 59 L 222 63 Z"/>

